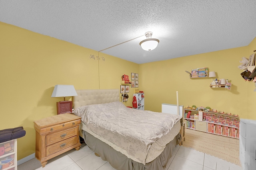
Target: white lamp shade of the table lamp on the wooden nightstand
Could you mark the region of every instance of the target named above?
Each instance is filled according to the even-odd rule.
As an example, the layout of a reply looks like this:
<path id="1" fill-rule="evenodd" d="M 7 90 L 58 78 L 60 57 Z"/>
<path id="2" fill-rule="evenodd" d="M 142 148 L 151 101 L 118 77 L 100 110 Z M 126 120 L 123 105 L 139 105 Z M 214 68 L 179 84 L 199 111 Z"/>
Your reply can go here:
<path id="1" fill-rule="evenodd" d="M 77 96 L 76 90 L 73 85 L 55 85 L 52 92 L 52 98 L 67 96 Z"/>

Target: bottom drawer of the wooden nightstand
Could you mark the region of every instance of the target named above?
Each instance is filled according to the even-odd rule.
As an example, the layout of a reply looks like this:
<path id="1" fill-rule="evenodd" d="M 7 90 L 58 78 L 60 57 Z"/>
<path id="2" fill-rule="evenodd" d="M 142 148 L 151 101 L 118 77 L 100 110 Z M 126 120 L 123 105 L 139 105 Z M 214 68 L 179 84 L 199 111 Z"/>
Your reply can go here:
<path id="1" fill-rule="evenodd" d="M 77 140 L 77 137 L 74 136 L 70 139 L 66 139 L 64 141 L 61 141 L 61 142 L 58 142 L 56 144 L 53 144 L 53 145 L 50 145 L 48 147 L 46 147 L 46 156 L 50 155 L 50 154 L 54 154 L 60 150 L 63 150 L 65 148 L 68 148 L 72 145 L 75 145 L 76 144 L 76 140 Z"/>

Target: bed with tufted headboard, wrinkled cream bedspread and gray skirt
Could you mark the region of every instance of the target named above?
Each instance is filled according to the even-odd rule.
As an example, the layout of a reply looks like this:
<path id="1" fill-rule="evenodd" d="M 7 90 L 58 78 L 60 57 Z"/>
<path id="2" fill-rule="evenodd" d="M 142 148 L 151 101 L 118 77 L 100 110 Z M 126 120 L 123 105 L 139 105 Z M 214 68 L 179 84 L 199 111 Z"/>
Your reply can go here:
<path id="1" fill-rule="evenodd" d="M 118 89 L 76 90 L 80 136 L 117 170 L 164 170 L 181 142 L 182 117 L 124 106 Z M 167 121 L 168 120 L 168 121 Z"/>

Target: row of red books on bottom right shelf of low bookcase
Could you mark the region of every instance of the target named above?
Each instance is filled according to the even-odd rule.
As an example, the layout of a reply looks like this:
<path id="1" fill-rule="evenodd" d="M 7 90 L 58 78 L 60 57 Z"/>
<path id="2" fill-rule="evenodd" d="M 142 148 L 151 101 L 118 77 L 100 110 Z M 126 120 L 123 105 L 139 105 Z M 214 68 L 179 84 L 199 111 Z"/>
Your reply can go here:
<path id="1" fill-rule="evenodd" d="M 207 132 L 216 133 L 218 135 L 225 135 L 229 137 L 239 138 L 239 130 L 233 127 L 226 127 L 222 125 L 215 125 L 208 123 Z"/>

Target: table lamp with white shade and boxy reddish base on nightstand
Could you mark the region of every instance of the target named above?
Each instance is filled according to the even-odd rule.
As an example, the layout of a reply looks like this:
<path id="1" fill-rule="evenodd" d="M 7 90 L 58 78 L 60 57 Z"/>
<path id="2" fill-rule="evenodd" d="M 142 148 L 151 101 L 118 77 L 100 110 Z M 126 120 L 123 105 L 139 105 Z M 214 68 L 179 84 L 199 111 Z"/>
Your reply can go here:
<path id="1" fill-rule="evenodd" d="M 57 114 L 72 113 L 72 101 L 66 101 L 66 97 L 77 96 L 73 85 L 55 85 L 52 98 L 64 97 L 64 101 L 56 102 Z"/>

